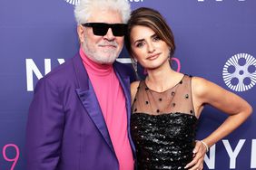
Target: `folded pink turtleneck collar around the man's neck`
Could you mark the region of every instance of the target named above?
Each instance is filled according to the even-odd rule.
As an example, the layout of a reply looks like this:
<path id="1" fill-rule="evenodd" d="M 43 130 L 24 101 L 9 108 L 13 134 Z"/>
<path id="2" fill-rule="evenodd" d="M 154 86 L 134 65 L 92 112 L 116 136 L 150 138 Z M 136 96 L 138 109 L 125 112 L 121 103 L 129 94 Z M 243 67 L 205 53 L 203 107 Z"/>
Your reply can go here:
<path id="1" fill-rule="evenodd" d="M 90 60 L 83 49 L 80 47 L 79 50 L 80 56 L 84 63 L 84 67 L 88 73 L 97 75 L 97 76 L 106 76 L 113 72 L 113 64 L 100 64 Z"/>

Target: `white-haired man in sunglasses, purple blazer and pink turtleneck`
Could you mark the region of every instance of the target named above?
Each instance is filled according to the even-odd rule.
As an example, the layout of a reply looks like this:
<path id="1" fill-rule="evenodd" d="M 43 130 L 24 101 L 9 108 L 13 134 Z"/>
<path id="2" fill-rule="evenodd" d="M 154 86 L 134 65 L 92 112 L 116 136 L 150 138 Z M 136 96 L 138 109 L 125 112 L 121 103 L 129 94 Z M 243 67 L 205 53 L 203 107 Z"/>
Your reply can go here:
<path id="1" fill-rule="evenodd" d="M 133 71 L 115 61 L 130 5 L 126 0 L 81 0 L 74 14 L 81 48 L 35 87 L 26 169 L 132 170 Z M 192 164 L 202 164 L 197 160 Z"/>

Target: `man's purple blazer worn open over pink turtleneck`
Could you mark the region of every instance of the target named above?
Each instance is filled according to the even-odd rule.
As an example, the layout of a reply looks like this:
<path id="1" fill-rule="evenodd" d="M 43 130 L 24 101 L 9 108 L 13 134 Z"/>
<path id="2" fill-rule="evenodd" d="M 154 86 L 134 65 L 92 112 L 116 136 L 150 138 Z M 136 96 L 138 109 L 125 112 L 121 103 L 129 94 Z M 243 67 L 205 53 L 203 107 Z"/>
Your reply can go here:
<path id="1" fill-rule="evenodd" d="M 113 63 L 126 100 L 130 135 L 133 71 Z M 103 113 L 79 54 L 39 80 L 26 128 L 26 170 L 117 170 Z"/>

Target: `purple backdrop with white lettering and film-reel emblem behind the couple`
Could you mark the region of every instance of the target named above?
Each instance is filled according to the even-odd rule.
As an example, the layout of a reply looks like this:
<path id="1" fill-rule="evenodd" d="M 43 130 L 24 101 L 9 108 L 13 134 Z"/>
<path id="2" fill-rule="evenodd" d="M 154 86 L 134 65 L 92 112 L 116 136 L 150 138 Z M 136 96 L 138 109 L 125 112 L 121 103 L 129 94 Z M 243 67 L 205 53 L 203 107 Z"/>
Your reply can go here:
<path id="1" fill-rule="evenodd" d="M 34 85 L 78 50 L 79 0 L 0 1 L 0 169 L 25 169 L 25 125 Z M 212 80 L 256 105 L 255 0 L 130 0 L 153 7 L 175 35 L 173 67 Z M 129 62 L 127 52 L 120 61 Z M 232 107 L 232 106 L 231 106 Z M 198 138 L 226 115 L 203 110 Z M 256 115 L 212 146 L 205 169 L 256 169 Z M 254 131 L 254 132 L 253 132 Z"/>

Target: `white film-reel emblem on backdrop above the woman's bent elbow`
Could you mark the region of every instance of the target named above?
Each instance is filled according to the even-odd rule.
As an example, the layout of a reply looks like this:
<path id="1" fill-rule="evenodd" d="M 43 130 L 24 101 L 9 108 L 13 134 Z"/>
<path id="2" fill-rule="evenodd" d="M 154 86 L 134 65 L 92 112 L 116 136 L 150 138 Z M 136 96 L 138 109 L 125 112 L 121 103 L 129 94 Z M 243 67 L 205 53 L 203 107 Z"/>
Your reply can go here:
<path id="1" fill-rule="evenodd" d="M 250 90 L 256 84 L 256 59 L 248 53 L 233 55 L 226 61 L 222 77 L 231 90 Z"/>

